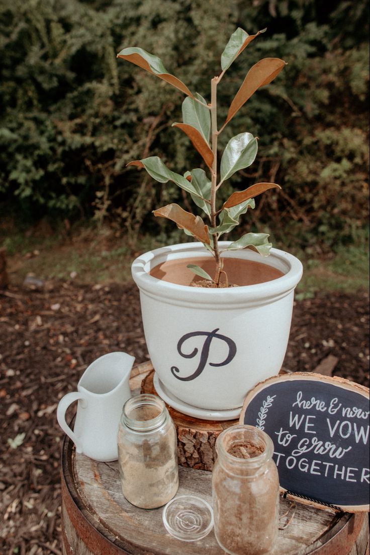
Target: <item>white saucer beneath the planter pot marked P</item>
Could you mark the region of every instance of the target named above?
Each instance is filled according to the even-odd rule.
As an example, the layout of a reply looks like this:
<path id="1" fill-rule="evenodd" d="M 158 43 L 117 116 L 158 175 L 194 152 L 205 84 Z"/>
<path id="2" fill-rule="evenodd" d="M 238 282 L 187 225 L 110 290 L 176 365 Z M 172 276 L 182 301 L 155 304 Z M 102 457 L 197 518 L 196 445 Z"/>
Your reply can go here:
<path id="1" fill-rule="evenodd" d="M 236 420 L 240 416 L 241 407 L 229 410 L 212 410 L 209 408 L 199 408 L 188 405 L 170 393 L 166 386 L 162 384 L 156 372 L 153 377 L 153 384 L 158 395 L 172 408 L 182 412 L 184 415 L 200 418 L 201 420 Z"/>

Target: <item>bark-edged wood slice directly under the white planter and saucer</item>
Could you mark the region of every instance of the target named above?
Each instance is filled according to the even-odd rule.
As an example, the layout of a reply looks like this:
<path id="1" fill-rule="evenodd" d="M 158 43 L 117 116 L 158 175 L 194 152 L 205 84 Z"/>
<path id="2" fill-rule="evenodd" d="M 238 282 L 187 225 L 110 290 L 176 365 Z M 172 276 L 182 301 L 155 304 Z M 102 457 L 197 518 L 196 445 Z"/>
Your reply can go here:
<path id="1" fill-rule="evenodd" d="M 154 370 L 141 382 L 142 393 L 159 395 L 153 384 Z M 169 415 L 177 431 L 177 455 L 181 466 L 196 468 L 197 470 L 212 471 L 216 452 L 215 442 L 219 434 L 230 426 L 238 423 L 237 420 L 201 420 L 184 415 L 175 408 L 167 405 Z"/>

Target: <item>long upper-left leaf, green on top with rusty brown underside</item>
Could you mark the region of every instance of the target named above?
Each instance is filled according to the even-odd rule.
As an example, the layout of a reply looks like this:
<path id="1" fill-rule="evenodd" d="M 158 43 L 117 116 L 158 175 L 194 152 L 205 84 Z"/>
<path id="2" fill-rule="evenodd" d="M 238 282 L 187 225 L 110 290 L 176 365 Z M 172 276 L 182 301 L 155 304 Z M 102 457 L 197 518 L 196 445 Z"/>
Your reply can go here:
<path id="1" fill-rule="evenodd" d="M 187 86 L 177 77 L 174 77 L 171 73 L 168 73 L 167 69 L 163 65 L 161 58 L 154 56 L 142 48 L 124 48 L 117 54 L 117 58 L 122 58 L 131 62 L 132 64 L 138 65 L 142 69 L 146 69 L 149 73 L 156 75 L 160 79 L 166 81 L 173 87 L 181 90 L 183 93 L 192 97 L 193 94 L 187 88 Z"/>

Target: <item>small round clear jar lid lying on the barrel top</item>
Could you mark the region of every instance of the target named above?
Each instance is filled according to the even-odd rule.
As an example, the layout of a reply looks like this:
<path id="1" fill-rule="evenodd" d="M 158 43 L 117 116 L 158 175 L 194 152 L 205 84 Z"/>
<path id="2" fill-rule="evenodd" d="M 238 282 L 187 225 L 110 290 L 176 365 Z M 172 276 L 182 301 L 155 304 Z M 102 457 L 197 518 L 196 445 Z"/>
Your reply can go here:
<path id="1" fill-rule="evenodd" d="M 162 518 L 167 532 L 183 542 L 196 542 L 213 528 L 212 507 L 193 495 L 171 499 L 163 508 Z"/>

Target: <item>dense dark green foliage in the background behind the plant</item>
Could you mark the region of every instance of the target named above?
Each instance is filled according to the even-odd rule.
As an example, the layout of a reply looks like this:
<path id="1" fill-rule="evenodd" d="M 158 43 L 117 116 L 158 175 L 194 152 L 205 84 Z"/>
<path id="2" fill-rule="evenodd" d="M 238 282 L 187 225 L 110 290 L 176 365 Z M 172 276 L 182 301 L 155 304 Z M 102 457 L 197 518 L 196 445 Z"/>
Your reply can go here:
<path id="1" fill-rule="evenodd" d="M 234 187 L 282 185 L 261 196 L 245 230 L 271 231 L 285 246 L 298 239 L 331 247 L 355 238 L 368 210 L 367 10 L 365 0 L 330 7 L 314 0 L 3 0 L 2 210 L 22 219 L 109 218 L 133 241 L 157 232 L 151 210 L 176 200 L 188 210 L 186 199 L 176 185 L 125 164 L 160 155 L 184 172 L 200 157 L 171 128 L 181 120 L 182 93 L 120 63 L 116 53 L 141 46 L 207 98 L 209 75 L 219 73 L 234 29 L 267 26 L 218 91 L 227 110 L 258 59 L 289 64 L 222 135 L 225 144 L 245 130 L 259 137 L 258 161 L 233 176 Z M 225 115 L 219 110 L 221 120 Z M 162 225 L 172 232 L 171 224 Z"/>

